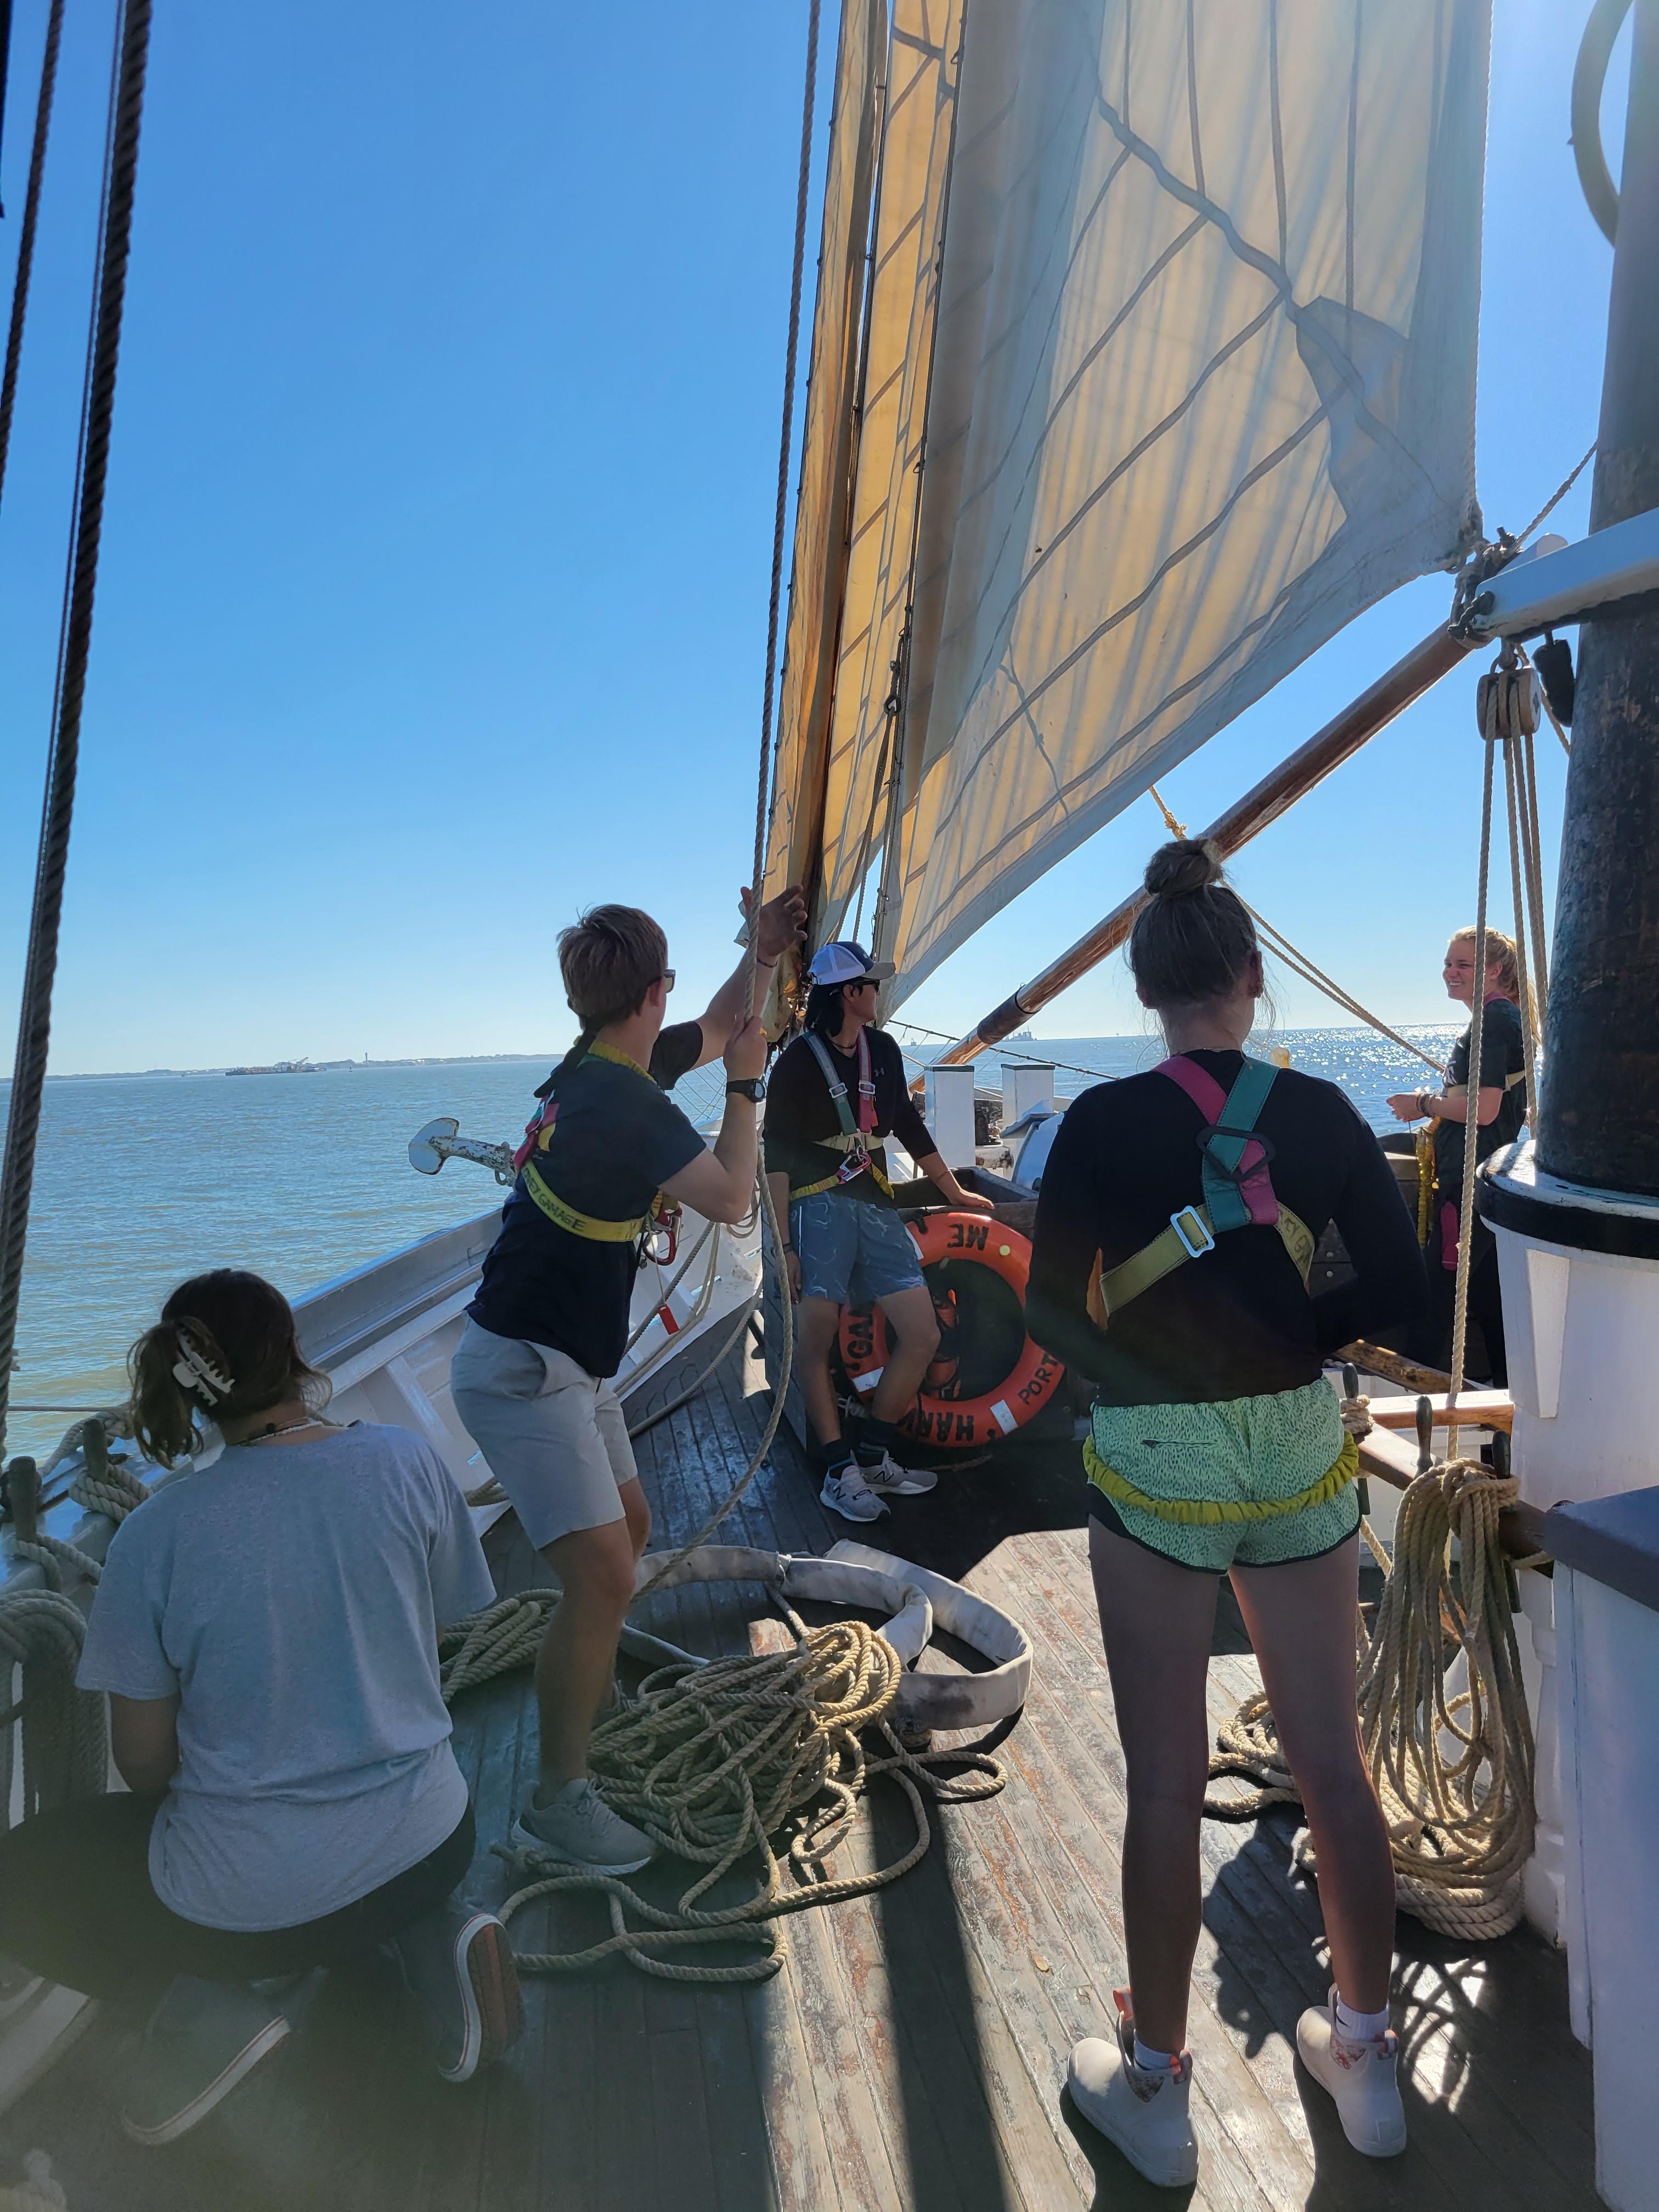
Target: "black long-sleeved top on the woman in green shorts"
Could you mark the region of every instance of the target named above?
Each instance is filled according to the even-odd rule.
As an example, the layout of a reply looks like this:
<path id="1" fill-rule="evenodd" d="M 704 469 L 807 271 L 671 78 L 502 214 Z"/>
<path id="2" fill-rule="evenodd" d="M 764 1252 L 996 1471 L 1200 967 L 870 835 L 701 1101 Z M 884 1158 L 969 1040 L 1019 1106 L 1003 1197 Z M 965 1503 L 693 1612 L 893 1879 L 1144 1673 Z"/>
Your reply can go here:
<path id="1" fill-rule="evenodd" d="M 1188 1053 L 1230 1091 L 1243 1053 Z M 1371 1130 L 1336 1084 L 1290 1068 L 1256 1128 L 1272 1146 L 1281 1206 L 1343 1232 L 1356 1281 L 1310 1298 L 1274 1228 L 1217 1239 L 1097 1329 L 1086 1312 L 1095 1254 L 1115 1267 L 1181 1206 L 1203 1197 L 1203 1115 L 1168 1075 L 1130 1075 L 1066 1108 L 1037 1197 L 1026 1323 L 1097 1385 L 1106 1405 L 1192 1405 L 1298 1389 L 1323 1354 L 1416 1321 L 1427 1301 L 1416 1225 Z"/>

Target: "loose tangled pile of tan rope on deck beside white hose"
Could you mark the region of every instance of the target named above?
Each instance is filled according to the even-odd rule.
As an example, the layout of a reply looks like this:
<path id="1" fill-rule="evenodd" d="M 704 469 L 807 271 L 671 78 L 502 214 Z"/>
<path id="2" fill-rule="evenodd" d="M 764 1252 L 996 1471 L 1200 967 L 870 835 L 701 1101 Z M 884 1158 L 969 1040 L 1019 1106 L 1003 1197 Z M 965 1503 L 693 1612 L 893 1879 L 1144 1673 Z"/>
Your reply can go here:
<path id="1" fill-rule="evenodd" d="M 887 1637 L 858 1619 L 807 1628 L 794 1613 L 785 1617 L 792 1650 L 659 1668 L 637 1699 L 595 1728 L 591 1770 L 606 1803 L 703 1871 L 672 1909 L 619 1876 L 564 1871 L 526 1882 L 502 1905 L 502 1920 L 538 1898 L 595 1891 L 608 1902 L 611 1936 L 575 1951 L 520 1951 L 522 1973 L 575 1973 L 622 1953 L 668 1982 L 763 1982 L 783 1964 L 781 1918 L 883 1889 L 927 1854 L 922 1792 L 964 1803 L 1002 1790 L 1000 1763 L 982 1752 L 909 1752 L 900 1743 L 889 1714 L 902 1663 Z M 867 1730 L 878 1732 L 885 1756 L 867 1754 Z M 825 1860 L 878 1774 L 891 1774 L 909 1798 L 916 1838 L 887 1867 L 832 1878 Z M 774 1838 L 787 1827 L 794 1832 L 779 1856 Z M 495 1849 L 524 1871 L 535 1865 L 533 1854 Z M 699 1900 L 752 1851 L 761 1858 L 754 1896 L 703 1907 Z M 712 1942 L 759 1944 L 759 1955 L 732 1966 L 666 1955 Z"/>

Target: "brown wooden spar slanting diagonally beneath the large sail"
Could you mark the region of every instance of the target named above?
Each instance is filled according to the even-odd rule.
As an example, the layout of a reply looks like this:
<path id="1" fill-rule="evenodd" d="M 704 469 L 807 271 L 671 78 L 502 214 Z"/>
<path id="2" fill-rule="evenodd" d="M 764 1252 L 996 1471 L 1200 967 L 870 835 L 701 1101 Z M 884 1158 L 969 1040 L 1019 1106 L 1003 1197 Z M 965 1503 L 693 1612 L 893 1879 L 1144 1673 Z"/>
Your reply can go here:
<path id="1" fill-rule="evenodd" d="M 1212 838 L 1221 847 L 1223 858 L 1239 852 L 1259 830 L 1276 823 L 1305 792 L 1323 783 L 1367 739 L 1376 737 L 1396 714 L 1431 690 L 1469 650 L 1469 639 L 1451 637 L 1449 630 L 1431 630 L 1422 644 L 1413 646 L 1369 690 L 1352 699 L 1340 714 L 1314 732 L 1287 761 L 1281 761 L 1252 792 L 1245 792 L 1208 830 L 1199 830 L 1197 834 Z M 938 1064 L 958 1066 L 964 1060 L 973 1060 L 987 1044 L 998 1044 L 1002 1037 L 1013 1035 L 1040 1006 L 1046 1006 L 1051 998 L 1057 998 L 1079 975 L 1086 975 L 1106 953 L 1117 951 L 1135 927 L 1135 916 L 1144 902 L 1144 894 L 1135 891 L 1113 907 L 1104 920 L 1077 938 L 1071 951 L 1053 960 L 1040 975 L 1015 991 L 1013 998 L 1004 998 L 967 1037 L 958 1037 L 956 1044 L 942 1051 Z"/>

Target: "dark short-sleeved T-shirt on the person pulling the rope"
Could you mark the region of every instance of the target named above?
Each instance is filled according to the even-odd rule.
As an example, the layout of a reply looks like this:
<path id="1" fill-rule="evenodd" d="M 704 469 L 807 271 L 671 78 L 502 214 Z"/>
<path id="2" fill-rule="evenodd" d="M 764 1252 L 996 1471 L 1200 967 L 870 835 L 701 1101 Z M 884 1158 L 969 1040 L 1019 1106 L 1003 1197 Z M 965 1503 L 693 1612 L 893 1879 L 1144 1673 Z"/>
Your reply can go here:
<path id="1" fill-rule="evenodd" d="M 637 1066 L 593 1057 L 560 1075 L 553 1135 L 531 1155 L 549 1190 L 597 1221 L 646 1214 L 661 1186 L 703 1150 L 664 1097 L 701 1051 L 701 1024 L 677 1022 L 657 1037 L 650 1079 Z M 568 1352 L 591 1376 L 613 1376 L 628 1343 L 637 1265 L 633 1239 L 602 1243 L 549 1221 L 520 1175 L 467 1312 L 480 1329 Z"/>

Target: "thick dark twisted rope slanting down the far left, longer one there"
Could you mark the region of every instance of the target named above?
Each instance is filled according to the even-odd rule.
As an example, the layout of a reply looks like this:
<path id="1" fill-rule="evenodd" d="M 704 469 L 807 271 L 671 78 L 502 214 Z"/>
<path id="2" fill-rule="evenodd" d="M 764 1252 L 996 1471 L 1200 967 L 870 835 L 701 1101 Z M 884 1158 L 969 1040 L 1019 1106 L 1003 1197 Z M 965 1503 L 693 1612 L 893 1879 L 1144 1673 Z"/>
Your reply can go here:
<path id="1" fill-rule="evenodd" d="M 86 697 L 86 661 L 93 644 L 93 597 L 97 591 L 97 546 L 104 529 L 108 440 L 115 411 L 115 369 L 122 349 L 126 263 L 133 243 L 133 186 L 137 175 L 139 122 L 144 115 L 144 66 L 150 46 L 150 0 L 124 0 L 117 15 L 115 80 L 104 157 L 97 288 L 86 338 L 86 385 L 82 396 L 80 458 L 75 467 L 71 560 L 64 580 L 64 615 L 58 646 L 53 734 L 46 765 L 46 799 L 40 823 L 40 858 L 29 916 L 18 1057 L 11 1077 L 11 1119 L 0 1168 L 0 1449 L 11 1400 L 11 1360 L 18 1340 L 22 1254 L 29 1234 L 29 1197 L 35 1177 L 40 1099 L 51 1042 L 51 989 L 58 971 L 58 927 L 64 907 L 69 832 L 75 816 L 75 765 Z"/>

